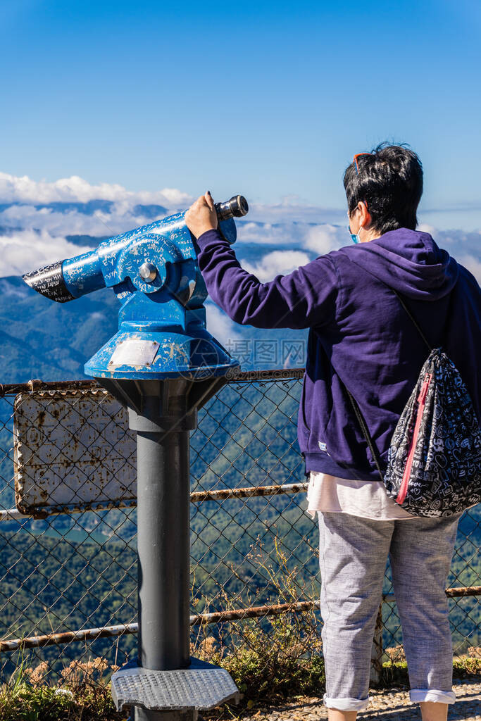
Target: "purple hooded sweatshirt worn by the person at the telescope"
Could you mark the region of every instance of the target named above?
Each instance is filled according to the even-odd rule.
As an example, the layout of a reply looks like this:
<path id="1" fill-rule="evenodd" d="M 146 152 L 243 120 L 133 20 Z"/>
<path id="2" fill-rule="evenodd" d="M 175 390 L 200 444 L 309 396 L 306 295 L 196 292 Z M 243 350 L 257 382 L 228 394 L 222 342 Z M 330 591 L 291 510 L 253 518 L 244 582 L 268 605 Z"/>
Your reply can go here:
<path id="1" fill-rule="evenodd" d="M 201 235 L 198 247 L 208 293 L 232 320 L 257 328 L 309 328 L 297 424 L 306 474 L 379 480 L 343 384 L 363 413 L 384 471 L 392 433 L 428 357 L 391 288 L 431 345 L 443 345 L 479 420 L 480 286 L 428 233 L 389 231 L 269 283 L 240 267 L 219 231 Z"/>

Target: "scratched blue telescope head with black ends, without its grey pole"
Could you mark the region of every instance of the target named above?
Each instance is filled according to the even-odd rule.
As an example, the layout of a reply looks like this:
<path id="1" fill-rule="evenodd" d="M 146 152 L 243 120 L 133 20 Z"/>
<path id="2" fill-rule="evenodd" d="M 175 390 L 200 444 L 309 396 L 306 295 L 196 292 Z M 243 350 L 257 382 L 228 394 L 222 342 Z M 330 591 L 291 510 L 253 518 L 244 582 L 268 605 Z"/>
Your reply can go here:
<path id="1" fill-rule="evenodd" d="M 242 195 L 216 203 L 219 230 L 233 243 Z M 97 249 L 23 276 L 58 303 L 112 288 L 122 306 L 118 333 L 85 365 L 99 379 L 200 379 L 225 375 L 237 361 L 206 329 L 208 295 L 185 211 L 114 236 Z"/>

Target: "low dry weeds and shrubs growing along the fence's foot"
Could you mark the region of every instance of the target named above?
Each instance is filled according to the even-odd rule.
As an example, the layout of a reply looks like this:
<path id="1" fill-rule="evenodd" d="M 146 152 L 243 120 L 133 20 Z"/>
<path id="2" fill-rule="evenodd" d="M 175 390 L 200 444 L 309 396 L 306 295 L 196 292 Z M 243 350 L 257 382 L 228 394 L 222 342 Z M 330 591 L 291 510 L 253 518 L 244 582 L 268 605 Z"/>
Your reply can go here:
<path id="1" fill-rule="evenodd" d="M 211 637 L 204 638 L 193 653 L 212 663 L 220 662 L 242 693 L 240 704 L 225 704 L 204 712 L 203 717 L 227 721 L 293 696 L 321 697 L 325 690 L 322 655 L 304 658 L 293 630 L 298 630 L 295 621 L 275 619 L 271 643 L 266 645 L 264 635 L 252 625 L 245 631 L 248 644 L 226 655 L 219 652 Z M 399 647 L 393 650 L 402 655 Z M 481 676 L 481 649 L 472 651 L 475 655 L 454 660 L 454 678 Z M 117 712 L 110 696 L 110 674 L 115 668 L 102 658 L 74 661 L 63 668 L 62 684 L 50 686 L 47 663 L 36 668 L 21 665 L 9 683 L 0 686 L 0 721 L 124 721 L 128 710 Z M 394 684 L 409 687 L 405 661 L 392 658 L 384 663 L 380 686 Z"/>

